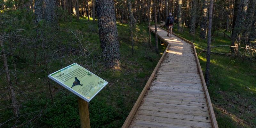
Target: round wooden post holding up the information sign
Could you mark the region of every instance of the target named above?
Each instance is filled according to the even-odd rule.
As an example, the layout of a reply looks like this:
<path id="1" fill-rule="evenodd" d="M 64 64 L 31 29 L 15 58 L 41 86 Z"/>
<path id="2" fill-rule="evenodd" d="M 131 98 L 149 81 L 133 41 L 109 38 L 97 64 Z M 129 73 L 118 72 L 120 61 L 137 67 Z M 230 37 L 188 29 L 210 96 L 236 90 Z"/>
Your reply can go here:
<path id="1" fill-rule="evenodd" d="M 88 102 L 77 97 L 81 128 L 91 128 Z"/>

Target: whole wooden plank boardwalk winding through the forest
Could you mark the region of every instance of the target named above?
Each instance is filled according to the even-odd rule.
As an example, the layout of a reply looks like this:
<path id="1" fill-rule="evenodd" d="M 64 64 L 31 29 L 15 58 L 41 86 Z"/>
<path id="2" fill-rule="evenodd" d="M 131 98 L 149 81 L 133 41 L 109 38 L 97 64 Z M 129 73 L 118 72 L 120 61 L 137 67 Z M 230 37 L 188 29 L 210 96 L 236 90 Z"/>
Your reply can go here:
<path id="1" fill-rule="evenodd" d="M 168 46 L 122 128 L 218 128 L 195 46 L 157 31 Z"/>

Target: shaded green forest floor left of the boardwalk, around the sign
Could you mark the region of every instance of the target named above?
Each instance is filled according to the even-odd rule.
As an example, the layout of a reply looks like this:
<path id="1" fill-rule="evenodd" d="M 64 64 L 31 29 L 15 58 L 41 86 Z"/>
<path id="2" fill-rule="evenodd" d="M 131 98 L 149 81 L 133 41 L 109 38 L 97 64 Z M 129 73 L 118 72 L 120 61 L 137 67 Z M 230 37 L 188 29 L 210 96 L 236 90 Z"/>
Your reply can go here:
<path id="1" fill-rule="evenodd" d="M 92 65 L 88 66 L 89 69 L 94 69 L 96 75 L 109 83 L 89 103 L 92 128 L 120 128 L 123 125 L 158 60 L 161 58 L 166 46 L 158 44 L 159 54 L 156 54 L 154 48 L 155 37 L 152 34 L 151 43 L 153 48 L 149 48 L 147 26 L 147 24 L 143 23 L 136 25 L 134 30 L 134 55 L 131 55 L 132 46 L 129 25 L 117 22 L 121 53 L 120 69 L 106 69 L 102 61 L 98 61 L 98 66 L 94 67 L 95 69 L 92 68 Z M 67 44 L 68 40 L 71 40 L 66 39 L 66 35 L 70 34 L 70 30 L 82 33 L 83 38 L 81 38 L 81 35 L 79 36 L 81 43 L 87 46 L 86 49 L 93 49 L 91 52 L 92 57 L 101 54 L 97 22 L 92 23 L 92 19 L 88 22 L 87 17 L 80 17 L 79 21 L 73 18 L 72 22 L 60 23 L 60 28 L 66 28 L 63 29 L 65 31 L 60 33 L 63 37 L 59 39 L 61 43 Z M 74 38 L 73 40 L 76 41 Z M 62 60 L 62 65 L 59 59 L 48 62 L 50 72 L 66 67 L 73 62 L 84 64 L 84 61 L 81 59 L 74 60 L 77 57 L 76 54 L 65 57 Z M 8 61 L 12 62 L 11 60 Z M 17 70 L 25 72 L 26 68 L 18 67 Z M 14 117 L 11 102 L 1 98 L 0 122 L 4 123 L 7 121 L 3 125 L 4 127 L 12 127 L 15 123 L 26 123 L 35 115 L 38 115 L 40 118 L 28 123 L 28 127 L 80 127 L 76 95 L 50 80 L 51 99 L 47 76 L 48 74 L 45 70 L 17 76 L 19 84 L 15 85 L 15 89 L 20 106 L 20 118 L 17 122 L 11 119 Z M 4 88 L 5 84 L 2 82 L 0 84 L 1 88 Z M 9 119 L 11 120 L 8 121 Z"/>

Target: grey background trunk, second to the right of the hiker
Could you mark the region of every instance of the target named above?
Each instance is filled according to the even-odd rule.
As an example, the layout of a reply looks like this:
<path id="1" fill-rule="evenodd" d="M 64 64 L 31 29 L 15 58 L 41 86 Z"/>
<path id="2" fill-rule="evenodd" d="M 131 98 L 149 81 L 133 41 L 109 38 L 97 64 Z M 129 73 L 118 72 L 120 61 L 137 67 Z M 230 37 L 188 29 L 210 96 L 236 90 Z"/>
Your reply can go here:
<path id="1" fill-rule="evenodd" d="M 192 0 L 192 8 L 191 8 L 191 17 L 190 17 L 190 21 L 189 21 L 189 33 L 192 35 L 195 35 L 195 31 L 196 31 L 196 4 L 197 0 Z"/>

